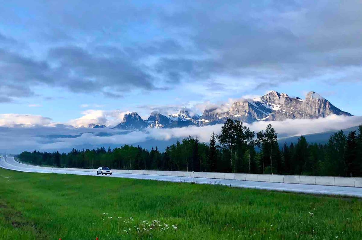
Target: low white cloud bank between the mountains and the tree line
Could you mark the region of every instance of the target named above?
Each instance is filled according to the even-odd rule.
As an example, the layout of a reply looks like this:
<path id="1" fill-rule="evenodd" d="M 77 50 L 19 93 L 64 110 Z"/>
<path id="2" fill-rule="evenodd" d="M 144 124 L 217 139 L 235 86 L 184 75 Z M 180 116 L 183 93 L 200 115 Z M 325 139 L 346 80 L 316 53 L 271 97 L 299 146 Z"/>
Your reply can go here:
<path id="1" fill-rule="evenodd" d="M 245 124 L 257 132 L 271 124 L 278 137 L 291 137 L 331 130 L 340 130 L 357 126 L 362 123 L 362 116 L 328 116 L 319 119 L 296 119 L 285 121 L 260 121 Z M 222 124 L 206 127 L 185 127 L 171 129 L 147 129 L 144 132 L 128 132 L 124 130 L 102 128 L 73 128 L 68 125 L 56 124 L 44 127 L 34 125 L 24 128 L 21 125 L 0 127 L 0 151 L 20 153 L 24 150 L 69 151 L 89 149 L 101 146 L 122 146 L 124 144 L 144 143 L 143 147 L 151 148 L 160 141 L 176 141 L 193 136 L 201 142 L 208 142 L 212 132 L 219 134 Z"/>

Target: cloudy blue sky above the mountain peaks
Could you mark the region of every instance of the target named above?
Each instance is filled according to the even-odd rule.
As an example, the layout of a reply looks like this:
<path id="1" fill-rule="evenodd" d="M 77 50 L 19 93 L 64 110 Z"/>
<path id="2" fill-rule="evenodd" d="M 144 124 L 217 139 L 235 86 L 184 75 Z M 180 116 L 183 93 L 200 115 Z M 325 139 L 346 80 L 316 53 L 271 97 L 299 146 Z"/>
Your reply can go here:
<path id="1" fill-rule="evenodd" d="M 276 90 L 362 115 L 361 1 L 1 5 L 0 114 L 117 121 Z"/>

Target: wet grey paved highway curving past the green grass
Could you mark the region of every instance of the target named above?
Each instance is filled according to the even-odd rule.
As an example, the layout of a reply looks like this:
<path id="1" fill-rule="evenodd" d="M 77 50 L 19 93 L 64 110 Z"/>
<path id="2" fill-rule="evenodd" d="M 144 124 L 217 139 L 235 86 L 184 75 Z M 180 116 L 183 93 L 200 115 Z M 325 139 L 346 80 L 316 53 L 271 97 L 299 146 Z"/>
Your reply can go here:
<path id="1" fill-rule="evenodd" d="M 1 158 L 0 167 L 7 168 L 10 170 L 22 171 L 22 172 L 63 173 L 63 174 L 68 173 L 76 175 L 97 176 L 96 171 L 92 169 L 39 167 L 39 166 L 19 163 L 15 161 L 13 157 L 8 157 L 6 159 Z M 124 177 L 124 178 L 133 178 L 133 179 L 149 179 L 149 180 L 188 182 L 188 183 L 191 183 L 192 181 L 192 177 L 142 175 L 142 174 L 129 174 L 129 173 L 113 173 L 112 176 L 99 175 L 98 177 Z M 241 188 L 362 197 L 362 188 L 355 188 L 355 187 L 338 187 L 338 186 L 290 184 L 290 183 L 269 183 L 269 182 L 257 182 L 257 181 L 243 181 L 243 180 L 209 179 L 209 178 L 199 178 L 199 177 L 195 177 L 194 181 L 200 184 L 220 184 L 220 185 L 227 185 L 227 186 L 241 187 Z"/>

